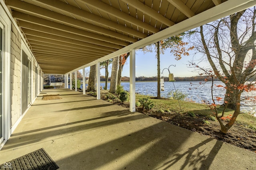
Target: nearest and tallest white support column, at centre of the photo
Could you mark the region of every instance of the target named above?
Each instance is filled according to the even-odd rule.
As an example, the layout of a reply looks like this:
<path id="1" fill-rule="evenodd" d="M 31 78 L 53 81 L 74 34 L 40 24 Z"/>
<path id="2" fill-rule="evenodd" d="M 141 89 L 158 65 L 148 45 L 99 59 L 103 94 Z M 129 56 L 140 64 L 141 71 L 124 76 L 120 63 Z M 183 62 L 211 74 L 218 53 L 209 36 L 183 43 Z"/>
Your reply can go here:
<path id="1" fill-rule="evenodd" d="M 135 49 L 132 49 L 130 51 L 130 112 L 136 111 L 135 80 Z"/>

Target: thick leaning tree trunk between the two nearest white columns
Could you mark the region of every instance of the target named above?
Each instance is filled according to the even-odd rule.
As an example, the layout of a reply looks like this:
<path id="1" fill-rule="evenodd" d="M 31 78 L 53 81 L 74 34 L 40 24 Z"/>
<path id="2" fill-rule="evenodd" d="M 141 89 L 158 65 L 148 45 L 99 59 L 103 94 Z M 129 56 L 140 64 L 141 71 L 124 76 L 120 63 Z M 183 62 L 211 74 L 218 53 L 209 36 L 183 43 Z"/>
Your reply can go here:
<path id="1" fill-rule="evenodd" d="M 111 79 L 110 79 L 110 93 L 116 92 L 117 87 L 117 76 L 118 76 L 118 63 L 119 63 L 119 56 L 113 58 L 112 63 L 112 71 L 111 71 Z"/>

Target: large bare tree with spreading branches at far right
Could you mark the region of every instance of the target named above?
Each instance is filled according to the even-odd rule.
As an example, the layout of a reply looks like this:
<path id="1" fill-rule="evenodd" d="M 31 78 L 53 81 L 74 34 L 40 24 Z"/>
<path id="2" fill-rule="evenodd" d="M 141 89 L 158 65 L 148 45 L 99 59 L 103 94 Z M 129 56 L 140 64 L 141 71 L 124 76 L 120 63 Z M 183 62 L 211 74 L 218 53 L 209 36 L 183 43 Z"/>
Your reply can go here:
<path id="1" fill-rule="evenodd" d="M 240 114 L 241 101 L 248 98 L 256 99 L 241 97 L 245 91 L 256 90 L 253 83 L 256 75 L 255 18 L 256 8 L 253 7 L 206 24 L 200 27 L 200 39 L 195 42 L 197 50 L 206 56 L 212 68 L 209 70 L 192 64 L 204 70 L 210 77 L 214 74 L 226 85 L 224 110 L 221 115 L 218 115 L 216 106 L 211 106 L 224 134 L 234 125 Z M 230 121 L 224 125 L 221 118 L 227 107 L 234 109 L 234 113 Z"/>

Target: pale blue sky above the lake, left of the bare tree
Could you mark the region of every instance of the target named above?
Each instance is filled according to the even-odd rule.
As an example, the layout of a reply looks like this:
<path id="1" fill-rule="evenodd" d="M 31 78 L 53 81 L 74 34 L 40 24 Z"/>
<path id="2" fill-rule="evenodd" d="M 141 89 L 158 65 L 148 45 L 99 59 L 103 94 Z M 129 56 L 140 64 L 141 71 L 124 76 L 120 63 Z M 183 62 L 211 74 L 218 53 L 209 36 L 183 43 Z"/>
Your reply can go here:
<path id="1" fill-rule="evenodd" d="M 176 60 L 175 57 L 171 55 L 170 49 L 169 51 L 166 50 L 164 54 L 160 54 L 160 76 L 166 76 L 168 77 L 168 67 L 170 65 L 176 65 L 170 66 L 170 73 L 174 74 L 174 77 L 192 77 L 197 76 L 198 73 L 195 72 L 194 68 L 188 67 L 188 61 L 192 61 L 194 56 L 194 51 L 190 51 L 189 56 L 182 56 L 182 59 Z M 136 65 L 136 77 L 144 76 L 144 77 L 152 77 L 157 76 L 157 59 L 156 59 L 156 53 L 155 52 L 148 52 L 143 53 L 141 50 L 136 50 L 136 57 L 135 57 L 135 65 Z M 111 66 L 109 66 L 109 77 L 111 76 Z M 164 69 L 167 68 L 167 69 Z M 163 71 L 164 69 L 164 71 Z M 86 70 L 90 70 L 90 67 L 87 67 Z M 194 72 L 193 72 L 194 71 Z M 80 70 L 82 73 L 82 70 Z M 100 70 L 100 75 L 105 76 L 105 69 Z M 130 77 L 130 57 L 128 57 L 123 71 L 122 71 L 122 77 L 127 76 Z"/>

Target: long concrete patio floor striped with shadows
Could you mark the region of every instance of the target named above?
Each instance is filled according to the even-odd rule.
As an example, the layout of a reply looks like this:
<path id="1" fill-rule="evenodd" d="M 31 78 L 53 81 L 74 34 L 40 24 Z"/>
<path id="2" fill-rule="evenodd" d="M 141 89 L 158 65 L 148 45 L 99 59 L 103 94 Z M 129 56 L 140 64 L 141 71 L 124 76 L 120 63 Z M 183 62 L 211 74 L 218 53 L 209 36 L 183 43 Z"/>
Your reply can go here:
<path id="1" fill-rule="evenodd" d="M 256 169 L 253 152 L 69 89 L 42 91 L 0 164 L 40 148 L 60 170 Z"/>

